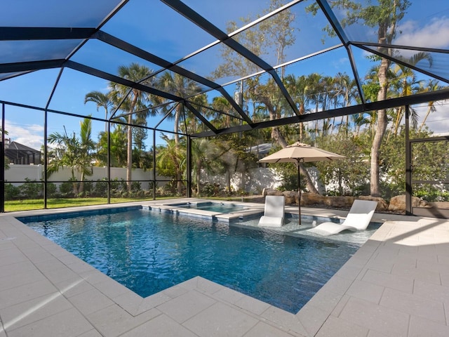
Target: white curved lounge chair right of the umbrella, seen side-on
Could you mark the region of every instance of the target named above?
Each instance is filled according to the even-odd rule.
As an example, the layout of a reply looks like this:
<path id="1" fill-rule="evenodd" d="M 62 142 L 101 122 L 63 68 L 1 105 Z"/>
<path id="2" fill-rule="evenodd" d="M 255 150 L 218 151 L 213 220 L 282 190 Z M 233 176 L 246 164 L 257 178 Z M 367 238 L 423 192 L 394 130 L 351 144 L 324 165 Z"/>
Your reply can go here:
<path id="1" fill-rule="evenodd" d="M 310 231 L 321 235 L 333 235 L 342 230 L 366 230 L 373 218 L 377 207 L 377 201 L 354 200 L 349 213 L 342 224 L 340 223 L 321 223 Z"/>

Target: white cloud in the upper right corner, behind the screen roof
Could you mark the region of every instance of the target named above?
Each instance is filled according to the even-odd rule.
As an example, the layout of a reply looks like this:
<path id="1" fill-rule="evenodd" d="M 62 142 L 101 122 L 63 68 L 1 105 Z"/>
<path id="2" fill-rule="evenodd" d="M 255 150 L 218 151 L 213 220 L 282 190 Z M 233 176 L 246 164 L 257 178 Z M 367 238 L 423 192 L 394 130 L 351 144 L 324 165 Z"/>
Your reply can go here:
<path id="1" fill-rule="evenodd" d="M 424 46 L 427 48 L 448 48 L 449 18 L 435 18 L 424 27 L 416 21 L 406 21 L 400 27 L 394 44 L 402 46 Z"/>

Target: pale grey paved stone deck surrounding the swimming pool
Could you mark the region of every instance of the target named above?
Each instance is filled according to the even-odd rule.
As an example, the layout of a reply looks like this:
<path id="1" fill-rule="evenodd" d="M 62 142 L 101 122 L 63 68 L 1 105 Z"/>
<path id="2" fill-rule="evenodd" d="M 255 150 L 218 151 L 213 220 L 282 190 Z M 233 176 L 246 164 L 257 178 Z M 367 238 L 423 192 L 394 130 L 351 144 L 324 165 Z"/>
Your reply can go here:
<path id="1" fill-rule="evenodd" d="M 14 218 L 57 211 L 0 215 L 0 337 L 449 336 L 449 220 L 375 213 L 386 222 L 293 315 L 201 277 L 141 298 Z"/>

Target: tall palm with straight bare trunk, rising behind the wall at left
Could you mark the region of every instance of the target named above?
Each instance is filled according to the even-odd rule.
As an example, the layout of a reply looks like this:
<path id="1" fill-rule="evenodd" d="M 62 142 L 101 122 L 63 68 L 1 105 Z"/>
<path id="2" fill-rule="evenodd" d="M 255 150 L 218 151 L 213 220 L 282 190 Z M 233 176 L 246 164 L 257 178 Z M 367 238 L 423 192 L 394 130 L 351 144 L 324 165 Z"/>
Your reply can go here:
<path id="1" fill-rule="evenodd" d="M 145 65 L 139 65 L 138 63 L 131 63 L 129 66 L 121 65 L 119 67 L 119 77 L 128 79 L 140 84 L 149 85 L 152 80 L 149 79 L 152 74 L 152 70 Z M 125 110 L 128 113 L 128 131 L 127 131 L 127 166 L 126 166 L 126 186 L 128 192 L 131 191 L 131 179 L 133 170 L 133 114 L 136 111 L 148 112 L 145 110 L 146 103 L 149 100 L 147 94 L 136 88 L 129 88 L 121 84 L 111 82 L 112 91 L 111 97 L 114 102 L 122 102 L 121 110 Z"/>

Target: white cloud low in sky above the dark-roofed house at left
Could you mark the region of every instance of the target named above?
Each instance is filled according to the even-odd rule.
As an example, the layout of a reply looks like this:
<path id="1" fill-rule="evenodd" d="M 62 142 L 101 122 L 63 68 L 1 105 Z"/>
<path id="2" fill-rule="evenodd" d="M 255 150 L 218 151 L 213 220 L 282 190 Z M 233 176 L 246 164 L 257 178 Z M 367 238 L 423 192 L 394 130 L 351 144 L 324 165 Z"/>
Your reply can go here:
<path id="1" fill-rule="evenodd" d="M 41 150 L 43 145 L 43 126 L 38 124 L 17 124 L 15 121 L 5 121 L 8 134 L 5 138 L 11 141 Z"/>

